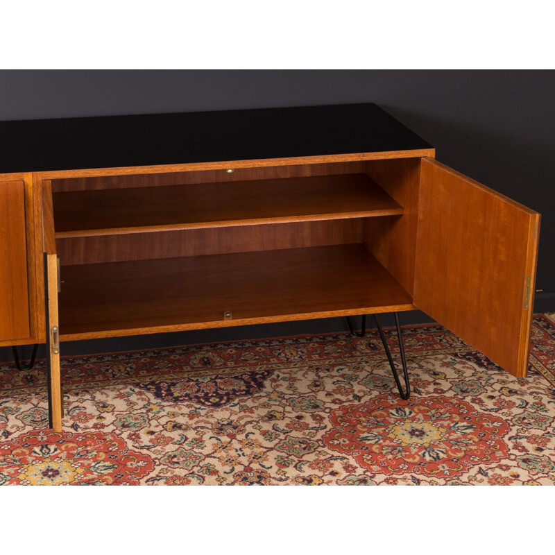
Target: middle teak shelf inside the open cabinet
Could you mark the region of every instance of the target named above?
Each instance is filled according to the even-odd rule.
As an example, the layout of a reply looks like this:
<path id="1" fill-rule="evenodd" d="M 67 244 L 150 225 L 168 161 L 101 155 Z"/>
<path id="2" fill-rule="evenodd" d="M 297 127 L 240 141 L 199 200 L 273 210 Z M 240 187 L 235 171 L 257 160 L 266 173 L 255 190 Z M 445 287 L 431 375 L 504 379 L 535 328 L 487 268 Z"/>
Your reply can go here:
<path id="1" fill-rule="evenodd" d="M 61 192 L 53 210 L 58 239 L 403 213 L 363 173 Z"/>

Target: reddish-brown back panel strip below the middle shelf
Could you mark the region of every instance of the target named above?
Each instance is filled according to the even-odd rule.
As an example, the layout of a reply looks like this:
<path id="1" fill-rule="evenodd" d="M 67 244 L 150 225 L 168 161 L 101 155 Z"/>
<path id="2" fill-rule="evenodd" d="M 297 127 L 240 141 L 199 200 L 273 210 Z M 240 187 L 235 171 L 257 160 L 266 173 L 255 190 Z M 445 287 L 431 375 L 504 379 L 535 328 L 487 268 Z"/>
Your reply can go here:
<path id="1" fill-rule="evenodd" d="M 56 239 L 60 264 L 95 264 L 362 242 L 363 219 Z"/>

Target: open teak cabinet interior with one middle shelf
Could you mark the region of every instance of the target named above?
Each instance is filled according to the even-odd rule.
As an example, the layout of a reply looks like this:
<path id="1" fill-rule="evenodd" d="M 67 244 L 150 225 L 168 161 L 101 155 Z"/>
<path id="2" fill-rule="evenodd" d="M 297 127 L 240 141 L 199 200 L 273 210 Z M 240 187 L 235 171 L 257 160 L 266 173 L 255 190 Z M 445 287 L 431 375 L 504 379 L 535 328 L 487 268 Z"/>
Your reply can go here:
<path id="1" fill-rule="evenodd" d="M 62 339 L 413 309 L 420 158 L 54 179 Z"/>

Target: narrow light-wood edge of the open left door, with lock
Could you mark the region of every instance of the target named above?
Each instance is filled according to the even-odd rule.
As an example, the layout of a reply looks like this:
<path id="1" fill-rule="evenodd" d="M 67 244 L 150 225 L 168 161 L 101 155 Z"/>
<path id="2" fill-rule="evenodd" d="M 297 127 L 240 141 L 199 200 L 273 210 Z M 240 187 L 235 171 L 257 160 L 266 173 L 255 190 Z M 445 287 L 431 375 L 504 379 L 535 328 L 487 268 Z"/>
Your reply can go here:
<path id="1" fill-rule="evenodd" d="M 49 424 L 62 431 L 63 397 L 60 381 L 60 328 L 58 326 L 58 257 L 44 253 L 46 302 L 46 367 L 48 371 Z"/>

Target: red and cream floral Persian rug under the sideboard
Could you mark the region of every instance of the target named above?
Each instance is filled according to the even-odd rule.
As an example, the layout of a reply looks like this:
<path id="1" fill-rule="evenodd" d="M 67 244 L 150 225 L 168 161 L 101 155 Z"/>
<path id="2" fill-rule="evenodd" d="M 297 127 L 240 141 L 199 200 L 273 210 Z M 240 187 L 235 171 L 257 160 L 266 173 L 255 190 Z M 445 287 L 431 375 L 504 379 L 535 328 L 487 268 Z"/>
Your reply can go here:
<path id="1" fill-rule="evenodd" d="M 65 357 L 61 434 L 44 363 L 3 364 L 0 483 L 554 484 L 555 323 L 534 317 L 521 379 L 403 331 L 407 401 L 376 330 Z"/>

